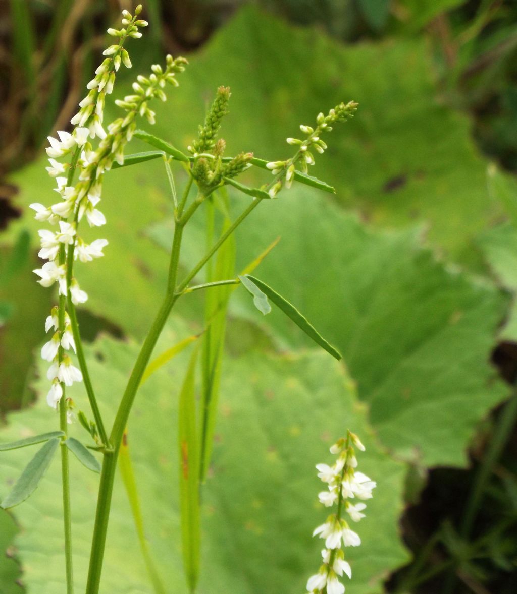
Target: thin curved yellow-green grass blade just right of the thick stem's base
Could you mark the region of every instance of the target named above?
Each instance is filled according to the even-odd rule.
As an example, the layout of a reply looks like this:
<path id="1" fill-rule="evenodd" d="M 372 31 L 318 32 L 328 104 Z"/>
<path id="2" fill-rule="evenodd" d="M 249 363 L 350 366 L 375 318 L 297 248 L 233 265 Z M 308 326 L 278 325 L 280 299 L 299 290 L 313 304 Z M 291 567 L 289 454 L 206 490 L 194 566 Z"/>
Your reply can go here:
<path id="1" fill-rule="evenodd" d="M 134 478 L 133 464 L 131 463 L 131 456 L 127 440 L 127 429 L 124 431 L 122 443 L 120 444 L 120 451 L 118 456 L 118 467 L 122 476 L 124 487 L 126 487 L 127 498 L 133 513 L 134 526 L 140 542 L 140 550 L 145 561 L 149 577 L 155 591 L 155 594 L 166 594 L 165 586 L 159 577 L 158 570 L 153 562 L 151 552 L 149 551 L 149 543 L 145 536 L 143 527 L 142 507 L 140 506 L 140 498 L 136 487 L 136 479 Z"/>

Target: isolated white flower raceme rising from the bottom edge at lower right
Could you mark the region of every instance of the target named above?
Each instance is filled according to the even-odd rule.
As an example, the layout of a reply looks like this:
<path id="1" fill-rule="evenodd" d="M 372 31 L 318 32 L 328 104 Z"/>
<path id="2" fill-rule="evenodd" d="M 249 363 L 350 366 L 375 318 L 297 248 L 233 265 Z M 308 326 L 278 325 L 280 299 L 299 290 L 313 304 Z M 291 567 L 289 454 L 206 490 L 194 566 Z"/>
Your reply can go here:
<path id="1" fill-rule="evenodd" d="M 352 504 L 349 499 L 357 498 L 366 500 L 372 497 L 372 489 L 377 486 L 374 481 L 362 472 L 356 472 L 357 459 L 355 447 L 364 451 L 364 445 L 357 435 L 348 432 L 346 438 L 341 438 L 330 448 L 332 454 L 337 455 L 333 466 L 318 464 L 318 477 L 327 484 L 327 491 L 319 493 L 319 501 L 325 507 L 337 505 L 337 511 L 327 518 L 327 522 L 318 526 L 312 536 L 319 535 L 325 539 L 325 548 L 321 551 L 323 564 L 314 576 L 309 577 L 307 590 L 312 594 L 343 594 L 344 586 L 339 577 L 346 574 L 352 578 L 352 568 L 344 560 L 344 551 L 341 546 L 359 546 L 361 538 L 350 529 L 346 520 L 341 518 L 341 513 L 346 511 L 353 522 L 359 522 L 365 517 L 364 503 Z"/>

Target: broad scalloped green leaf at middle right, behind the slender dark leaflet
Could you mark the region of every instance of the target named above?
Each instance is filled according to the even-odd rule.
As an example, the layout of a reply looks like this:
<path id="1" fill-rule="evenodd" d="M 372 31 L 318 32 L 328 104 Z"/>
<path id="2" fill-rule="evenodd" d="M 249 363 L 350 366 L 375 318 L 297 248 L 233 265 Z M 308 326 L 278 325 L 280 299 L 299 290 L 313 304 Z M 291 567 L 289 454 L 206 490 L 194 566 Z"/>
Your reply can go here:
<path id="1" fill-rule="evenodd" d="M 164 245 L 165 229 L 152 232 Z M 425 465 L 464 464 L 478 421 L 506 396 L 488 364 L 503 295 L 444 267 L 419 247 L 418 229 L 374 232 L 300 191 L 243 224 L 238 267 L 278 235 L 261 278 L 339 348 L 384 443 Z M 233 311 L 255 315 L 245 297 L 236 292 Z M 264 324 L 308 344 L 278 312 Z"/>

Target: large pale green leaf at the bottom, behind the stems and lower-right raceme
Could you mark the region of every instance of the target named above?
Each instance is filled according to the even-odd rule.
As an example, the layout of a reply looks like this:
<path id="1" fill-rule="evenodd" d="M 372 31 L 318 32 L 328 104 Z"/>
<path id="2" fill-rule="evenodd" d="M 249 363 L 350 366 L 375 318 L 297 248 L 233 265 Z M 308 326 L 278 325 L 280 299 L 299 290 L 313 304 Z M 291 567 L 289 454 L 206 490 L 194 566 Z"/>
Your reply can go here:
<path id="1" fill-rule="evenodd" d="M 177 340 L 177 334 L 165 336 L 161 347 Z M 92 375 L 98 382 L 100 406 L 108 416 L 113 413 L 136 352 L 131 343 L 108 339 L 87 349 Z M 174 370 L 164 367 L 142 386 L 129 435 L 153 559 L 168 591 L 183 592 L 174 434 L 186 354 L 181 353 L 176 362 Z M 38 384 L 42 392 L 45 384 Z M 81 387 L 73 388 L 70 396 L 82 406 L 85 397 Z M 32 409 L 10 415 L 10 426 L 2 431 L 2 440 L 19 438 L 28 427 L 33 431 L 48 429 L 55 422 L 52 410 L 44 399 L 39 400 Z M 303 591 L 307 577 L 317 570 L 321 559 L 320 543 L 311 538 L 311 532 L 327 515 L 327 510 L 316 503 L 321 484 L 314 465 L 330 461 L 328 445 L 347 427 L 358 432 L 366 445 L 359 462 L 361 469 L 378 481 L 374 499 L 368 502 L 368 515 L 358 526 L 364 545 L 350 551 L 353 591 L 382 592 L 383 576 L 406 561 L 397 526 L 404 469 L 378 448 L 343 368 L 326 353 L 312 352 L 289 356 L 251 352 L 227 360 L 212 467 L 203 489 L 199 592 Z M 80 432 L 81 428 L 72 426 L 71 431 Z M 5 456 L 0 467 L 2 494 L 17 474 L 26 451 L 15 450 Z M 80 592 L 98 477 L 71 465 L 71 484 L 74 574 Z M 45 487 L 38 489 L 28 504 L 17 508 L 16 517 L 26 529 L 15 544 L 28 594 L 64 591 L 58 485 L 56 465 L 49 470 Z M 152 592 L 118 477 L 105 563 L 102 592 Z"/>

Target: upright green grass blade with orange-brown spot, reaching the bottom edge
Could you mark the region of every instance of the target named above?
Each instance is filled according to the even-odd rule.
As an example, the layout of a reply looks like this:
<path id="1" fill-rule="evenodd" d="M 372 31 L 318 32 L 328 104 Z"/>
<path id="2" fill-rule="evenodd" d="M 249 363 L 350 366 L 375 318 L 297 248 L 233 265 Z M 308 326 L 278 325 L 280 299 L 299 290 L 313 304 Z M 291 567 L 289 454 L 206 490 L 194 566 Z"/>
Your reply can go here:
<path id="1" fill-rule="evenodd" d="M 180 457 L 180 509 L 183 565 L 190 592 L 195 592 L 199 577 L 201 545 L 199 511 L 199 443 L 196 430 L 196 361 L 192 353 L 181 387 L 178 409 L 178 446 Z"/>

